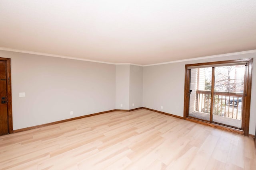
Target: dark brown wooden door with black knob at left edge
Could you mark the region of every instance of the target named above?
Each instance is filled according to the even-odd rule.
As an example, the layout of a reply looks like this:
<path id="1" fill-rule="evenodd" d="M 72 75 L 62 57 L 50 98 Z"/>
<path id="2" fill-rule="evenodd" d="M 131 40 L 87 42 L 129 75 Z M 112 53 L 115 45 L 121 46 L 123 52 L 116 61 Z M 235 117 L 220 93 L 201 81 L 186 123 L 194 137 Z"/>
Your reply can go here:
<path id="1" fill-rule="evenodd" d="M 8 133 L 6 61 L 0 61 L 0 135 Z"/>

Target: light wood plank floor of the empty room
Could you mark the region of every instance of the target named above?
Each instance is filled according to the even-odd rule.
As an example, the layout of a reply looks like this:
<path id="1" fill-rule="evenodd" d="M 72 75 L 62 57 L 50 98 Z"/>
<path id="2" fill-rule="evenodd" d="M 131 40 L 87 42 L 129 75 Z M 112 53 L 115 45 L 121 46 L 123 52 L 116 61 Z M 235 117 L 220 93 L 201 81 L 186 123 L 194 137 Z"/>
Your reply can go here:
<path id="1" fill-rule="evenodd" d="M 140 109 L 0 137 L 0 169 L 255 170 L 253 139 Z"/>

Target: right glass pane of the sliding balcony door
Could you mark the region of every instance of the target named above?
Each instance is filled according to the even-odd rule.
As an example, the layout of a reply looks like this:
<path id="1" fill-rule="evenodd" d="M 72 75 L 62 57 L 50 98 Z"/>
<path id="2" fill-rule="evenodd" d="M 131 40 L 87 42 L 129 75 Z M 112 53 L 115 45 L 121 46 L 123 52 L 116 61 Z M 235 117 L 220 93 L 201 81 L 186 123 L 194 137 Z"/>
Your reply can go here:
<path id="1" fill-rule="evenodd" d="M 244 65 L 215 67 L 213 121 L 242 127 Z"/>

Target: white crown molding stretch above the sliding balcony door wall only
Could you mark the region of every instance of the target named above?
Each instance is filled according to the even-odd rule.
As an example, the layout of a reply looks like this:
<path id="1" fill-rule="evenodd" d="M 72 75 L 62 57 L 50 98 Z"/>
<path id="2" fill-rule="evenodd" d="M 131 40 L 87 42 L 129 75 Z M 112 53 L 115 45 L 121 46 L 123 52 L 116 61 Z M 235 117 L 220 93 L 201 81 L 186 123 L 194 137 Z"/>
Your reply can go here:
<path id="1" fill-rule="evenodd" d="M 192 59 L 183 59 L 183 60 L 169 61 L 169 62 L 164 62 L 164 63 L 148 64 L 148 65 L 143 65 L 143 66 L 155 66 L 155 65 L 170 64 L 170 63 L 180 63 L 180 62 L 185 62 L 185 61 L 211 59 L 211 58 L 218 58 L 218 57 L 225 57 L 225 56 L 232 56 L 232 55 L 241 55 L 241 54 L 249 54 L 249 53 L 256 53 L 256 50 L 240 51 L 240 52 L 235 52 L 235 53 L 226 53 L 226 54 L 219 54 L 219 55 L 209 55 L 209 56 L 206 56 L 206 57 L 196 57 L 196 58 L 192 58 Z"/>

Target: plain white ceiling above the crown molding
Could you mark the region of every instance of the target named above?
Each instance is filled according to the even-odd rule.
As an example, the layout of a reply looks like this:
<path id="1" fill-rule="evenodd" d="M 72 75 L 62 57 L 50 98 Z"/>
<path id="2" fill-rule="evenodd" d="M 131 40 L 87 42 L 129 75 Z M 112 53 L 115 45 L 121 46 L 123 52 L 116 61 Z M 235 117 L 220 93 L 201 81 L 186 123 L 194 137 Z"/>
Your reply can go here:
<path id="1" fill-rule="evenodd" d="M 0 47 L 154 64 L 256 49 L 256 0 L 0 0 Z"/>

